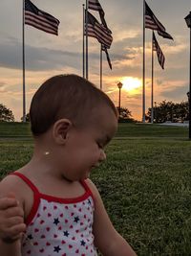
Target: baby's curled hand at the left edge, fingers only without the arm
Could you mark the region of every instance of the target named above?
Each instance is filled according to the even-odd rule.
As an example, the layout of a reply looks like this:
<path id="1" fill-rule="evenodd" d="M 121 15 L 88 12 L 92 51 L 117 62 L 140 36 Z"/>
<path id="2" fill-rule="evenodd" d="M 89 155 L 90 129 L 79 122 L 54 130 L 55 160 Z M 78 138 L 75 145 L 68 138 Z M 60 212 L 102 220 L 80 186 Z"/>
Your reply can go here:
<path id="1" fill-rule="evenodd" d="M 14 195 L 0 198 L 0 239 L 12 243 L 26 230 L 24 212 Z"/>

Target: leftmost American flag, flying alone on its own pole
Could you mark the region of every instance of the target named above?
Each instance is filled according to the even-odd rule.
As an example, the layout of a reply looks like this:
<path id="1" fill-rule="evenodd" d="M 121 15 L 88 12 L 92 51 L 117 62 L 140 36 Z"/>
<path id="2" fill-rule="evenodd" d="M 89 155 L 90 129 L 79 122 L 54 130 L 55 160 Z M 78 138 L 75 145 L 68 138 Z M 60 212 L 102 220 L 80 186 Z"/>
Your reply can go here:
<path id="1" fill-rule="evenodd" d="M 25 0 L 25 24 L 46 33 L 58 35 L 59 20 L 39 10 L 30 0 Z"/>

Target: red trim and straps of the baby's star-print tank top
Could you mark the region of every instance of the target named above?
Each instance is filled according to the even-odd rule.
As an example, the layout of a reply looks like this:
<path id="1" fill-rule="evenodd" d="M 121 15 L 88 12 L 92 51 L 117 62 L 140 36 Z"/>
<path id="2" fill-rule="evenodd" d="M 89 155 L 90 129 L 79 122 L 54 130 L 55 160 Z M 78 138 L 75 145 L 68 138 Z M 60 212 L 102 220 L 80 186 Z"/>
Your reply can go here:
<path id="1" fill-rule="evenodd" d="M 49 195 L 40 193 L 38 191 L 38 189 L 35 187 L 35 185 L 32 183 L 32 181 L 27 176 L 25 176 L 21 173 L 18 173 L 18 172 L 11 173 L 10 175 L 19 176 L 32 189 L 33 203 L 32 203 L 32 210 L 30 211 L 30 213 L 25 221 L 27 225 L 29 225 L 32 222 L 32 219 L 34 218 L 35 214 L 37 213 L 38 206 L 40 203 L 40 198 L 43 198 L 47 201 L 54 201 L 54 202 L 60 202 L 60 203 L 77 203 L 77 202 L 83 201 L 89 197 L 92 197 L 94 199 L 93 193 L 85 180 L 80 181 L 81 185 L 85 189 L 85 193 L 82 196 L 79 196 L 76 198 L 56 198 L 53 196 L 49 196 Z"/>

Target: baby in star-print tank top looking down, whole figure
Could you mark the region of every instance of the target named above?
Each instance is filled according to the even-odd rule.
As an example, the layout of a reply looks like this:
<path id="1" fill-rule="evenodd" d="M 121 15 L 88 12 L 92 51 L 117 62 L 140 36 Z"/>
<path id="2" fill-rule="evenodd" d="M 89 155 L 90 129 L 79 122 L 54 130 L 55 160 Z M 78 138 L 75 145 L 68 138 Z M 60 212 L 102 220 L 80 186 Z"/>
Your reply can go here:
<path id="1" fill-rule="evenodd" d="M 34 94 L 30 118 L 32 159 L 0 183 L 1 256 L 135 256 L 89 178 L 117 131 L 109 97 L 79 76 L 55 76 Z"/>

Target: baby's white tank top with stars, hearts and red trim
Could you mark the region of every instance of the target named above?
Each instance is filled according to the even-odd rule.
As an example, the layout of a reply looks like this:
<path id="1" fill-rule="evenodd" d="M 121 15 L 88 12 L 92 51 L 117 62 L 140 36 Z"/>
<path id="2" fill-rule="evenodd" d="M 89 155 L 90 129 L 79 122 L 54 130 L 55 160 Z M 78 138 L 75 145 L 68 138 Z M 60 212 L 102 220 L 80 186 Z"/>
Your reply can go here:
<path id="1" fill-rule="evenodd" d="M 22 256 L 97 256 L 94 245 L 94 199 L 87 183 L 84 195 L 54 198 L 41 194 L 25 175 L 14 172 L 32 189 L 33 205 L 22 241 Z"/>

